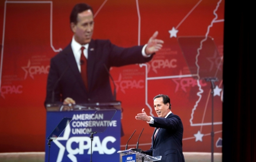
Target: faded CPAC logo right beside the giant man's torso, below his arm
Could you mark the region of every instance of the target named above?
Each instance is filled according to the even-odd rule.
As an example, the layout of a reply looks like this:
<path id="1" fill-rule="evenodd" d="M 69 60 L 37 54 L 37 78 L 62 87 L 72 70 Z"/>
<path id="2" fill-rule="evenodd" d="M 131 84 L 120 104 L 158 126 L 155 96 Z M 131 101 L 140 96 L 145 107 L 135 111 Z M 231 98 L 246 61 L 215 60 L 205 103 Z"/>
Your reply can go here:
<path id="1" fill-rule="evenodd" d="M 119 78 L 117 81 L 114 81 L 116 84 L 116 92 L 118 92 L 118 89 L 120 88 L 120 90 L 125 94 L 125 89 L 142 89 L 144 88 L 144 80 L 140 79 L 140 80 L 122 80 L 122 75 L 119 74 Z"/>

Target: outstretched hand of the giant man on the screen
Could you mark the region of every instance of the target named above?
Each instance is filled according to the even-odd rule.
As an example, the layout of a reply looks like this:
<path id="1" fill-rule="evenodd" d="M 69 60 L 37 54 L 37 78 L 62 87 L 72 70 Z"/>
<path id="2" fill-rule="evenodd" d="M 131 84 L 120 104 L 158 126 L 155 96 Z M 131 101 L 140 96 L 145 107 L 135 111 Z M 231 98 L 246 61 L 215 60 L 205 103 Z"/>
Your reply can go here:
<path id="1" fill-rule="evenodd" d="M 147 55 L 158 52 L 163 47 L 163 41 L 161 39 L 157 39 L 158 31 L 156 31 L 152 37 L 149 38 L 147 42 L 147 47 L 145 49 L 145 53 Z"/>

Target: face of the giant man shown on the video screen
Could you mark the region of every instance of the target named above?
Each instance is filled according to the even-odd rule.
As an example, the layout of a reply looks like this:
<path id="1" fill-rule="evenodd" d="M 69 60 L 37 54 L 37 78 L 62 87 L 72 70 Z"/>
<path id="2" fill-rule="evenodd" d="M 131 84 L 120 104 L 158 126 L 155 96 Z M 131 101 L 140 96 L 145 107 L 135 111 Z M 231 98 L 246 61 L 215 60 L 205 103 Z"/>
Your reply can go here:
<path id="1" fill-rule="evenodd" d="M 93 12 L 91 10 L 83 11 L 78 14 L 77 20 L 76 24 L 71 23 L 75 40 L 81 45 L 90 43 L 94 27 Z"/>

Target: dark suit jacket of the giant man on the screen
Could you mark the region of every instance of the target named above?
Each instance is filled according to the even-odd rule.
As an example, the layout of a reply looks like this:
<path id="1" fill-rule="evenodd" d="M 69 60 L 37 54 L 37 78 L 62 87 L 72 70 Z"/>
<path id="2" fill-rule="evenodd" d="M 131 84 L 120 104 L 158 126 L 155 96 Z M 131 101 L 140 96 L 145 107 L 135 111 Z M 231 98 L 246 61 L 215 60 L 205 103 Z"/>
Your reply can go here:
<path id="1" fill-rule="evenodd" d="M 143 46 L 132 48 L 117 47 L 109 40 L 91 40 L 88 49 L 86 90 L 74 54 L 69 44 L 50 61 L 45 103 L 51 103 L 54 91 L 54 102 L 62 102 L 67 97 L 76 103 L 95 103 L 114 101 L 108 71 L 111 66 L 122 66 L 145 63 L 152 59 L 142 56 Z"/>

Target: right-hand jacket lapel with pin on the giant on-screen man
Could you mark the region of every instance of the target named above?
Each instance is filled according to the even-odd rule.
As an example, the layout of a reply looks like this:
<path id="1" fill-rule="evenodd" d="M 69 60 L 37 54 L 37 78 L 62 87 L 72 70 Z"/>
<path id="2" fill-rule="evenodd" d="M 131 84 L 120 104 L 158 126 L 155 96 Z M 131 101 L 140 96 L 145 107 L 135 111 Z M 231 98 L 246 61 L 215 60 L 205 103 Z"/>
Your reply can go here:
<path id="1" fill-rule="evenodd" d="M 88 59 L 87 59 L 87 77 L 88 77 L 88 88 L 89 91 L 93 86 L 93 71 L 94 71 L 94 65 L 96 61 L 96 48 L 95 48 L 95 42 L 93 39 L 91 39 L 91 42 L 89 44 L 88 48 Z"/>

